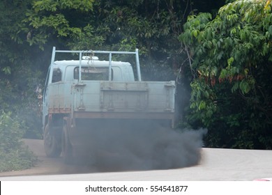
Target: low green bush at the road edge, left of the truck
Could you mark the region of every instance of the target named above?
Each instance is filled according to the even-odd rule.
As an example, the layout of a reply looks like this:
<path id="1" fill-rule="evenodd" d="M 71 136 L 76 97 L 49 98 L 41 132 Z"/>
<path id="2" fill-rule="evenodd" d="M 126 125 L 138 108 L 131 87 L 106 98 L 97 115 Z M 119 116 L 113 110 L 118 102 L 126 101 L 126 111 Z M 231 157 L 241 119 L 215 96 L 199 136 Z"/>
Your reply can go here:
<path id="1" fill-rule="evenodd" d="M 36 157 L 22 143 L 24 132 L 20 123 L 11 118 L 11 113 L 0 113 L 0 172 L 27 169 L 36 162 Z"/>

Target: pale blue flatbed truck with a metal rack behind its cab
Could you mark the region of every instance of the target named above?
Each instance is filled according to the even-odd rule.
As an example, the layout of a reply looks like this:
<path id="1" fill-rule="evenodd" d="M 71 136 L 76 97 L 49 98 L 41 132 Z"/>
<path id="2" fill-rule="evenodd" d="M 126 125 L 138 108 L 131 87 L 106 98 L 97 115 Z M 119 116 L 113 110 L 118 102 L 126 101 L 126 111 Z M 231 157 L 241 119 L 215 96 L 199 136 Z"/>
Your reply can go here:
<path id="1" fill-rule="evenodd" d="M 60 53 L 77 59 L 55 61 Z M 106 59 L 100 60 L 97 55 Z M 130 59 L 134 55 L 134 66 L 114 61 L 114 55 L 130 55 Z M 62 154 L 64 162 L 70 163 L 77 146 L 84 148 L 91 143 L 93 131 L 130 128 L 133 123 L 173 127 L 175 92 L 175 81 L 142 81 L 138 49 L 75 51 L 53 47 L 43 91 L 45 154 Z"/>

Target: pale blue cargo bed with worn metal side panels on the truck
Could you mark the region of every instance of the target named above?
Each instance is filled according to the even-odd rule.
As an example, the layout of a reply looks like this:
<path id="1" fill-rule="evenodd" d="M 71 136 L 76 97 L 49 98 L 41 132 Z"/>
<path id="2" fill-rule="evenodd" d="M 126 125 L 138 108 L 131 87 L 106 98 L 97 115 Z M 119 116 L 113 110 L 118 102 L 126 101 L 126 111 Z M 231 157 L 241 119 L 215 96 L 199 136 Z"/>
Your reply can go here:
<path id="1" fill-rule="evenodd" d="M 50 84 L 50 114 L 92 118 L 174 116 L 174 81 L 82 81 Z"/>

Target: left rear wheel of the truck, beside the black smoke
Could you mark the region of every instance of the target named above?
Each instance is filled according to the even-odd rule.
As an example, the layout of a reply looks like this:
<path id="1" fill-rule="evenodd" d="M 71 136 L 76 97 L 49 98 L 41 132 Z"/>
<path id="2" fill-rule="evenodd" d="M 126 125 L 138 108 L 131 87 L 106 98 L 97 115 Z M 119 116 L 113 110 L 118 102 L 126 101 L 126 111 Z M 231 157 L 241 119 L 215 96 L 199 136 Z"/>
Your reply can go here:
<path id="1" fill-rule="evenodd" d="M 61 137 L 62 155 L 65 164 L 71 164 L 73 160 L 73 147 L 68 137 L 67 125 L 63 125 L 62 137 Z"/>

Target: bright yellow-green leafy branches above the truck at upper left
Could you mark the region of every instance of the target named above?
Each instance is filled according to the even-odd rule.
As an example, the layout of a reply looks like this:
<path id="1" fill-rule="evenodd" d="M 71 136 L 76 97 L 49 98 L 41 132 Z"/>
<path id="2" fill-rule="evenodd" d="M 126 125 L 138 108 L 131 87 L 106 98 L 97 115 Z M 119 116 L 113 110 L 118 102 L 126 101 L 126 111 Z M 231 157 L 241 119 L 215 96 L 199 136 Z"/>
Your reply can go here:
<path id="1" fill-rule="evenodd" d="M 82 28 L 78 24 L 71 25 L 68 19 L 75 14 L 84 15 L 92 8 L 93 0 L 33 1 L 32 8 L 27 10 L 27 17 L 19 24 L 17 34 L 27 33 L 26 41 L 29 45 L 39 45 L 40 49 L 44 49 L 44 45 L 51 38 L 80 36 Z M 17 35 L 13 38 L 17 42 L 25 41 Z"/>

